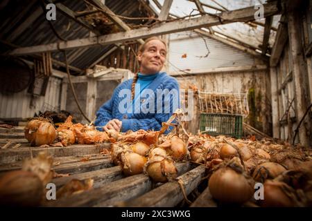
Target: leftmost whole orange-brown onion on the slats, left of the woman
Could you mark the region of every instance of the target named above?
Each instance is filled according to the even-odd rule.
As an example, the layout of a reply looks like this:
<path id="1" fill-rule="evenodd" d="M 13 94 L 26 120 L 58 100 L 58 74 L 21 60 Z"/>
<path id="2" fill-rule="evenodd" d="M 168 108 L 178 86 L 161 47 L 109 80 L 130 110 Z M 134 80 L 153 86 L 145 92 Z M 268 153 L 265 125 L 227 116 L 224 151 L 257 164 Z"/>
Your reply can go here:
<path id="1" fill-rule="evenodd" d="M 52 144 L 55 140 L 54 126 L 44 118 L 32 119 L 25 126 L 25 137 L 33 146 Z"/>

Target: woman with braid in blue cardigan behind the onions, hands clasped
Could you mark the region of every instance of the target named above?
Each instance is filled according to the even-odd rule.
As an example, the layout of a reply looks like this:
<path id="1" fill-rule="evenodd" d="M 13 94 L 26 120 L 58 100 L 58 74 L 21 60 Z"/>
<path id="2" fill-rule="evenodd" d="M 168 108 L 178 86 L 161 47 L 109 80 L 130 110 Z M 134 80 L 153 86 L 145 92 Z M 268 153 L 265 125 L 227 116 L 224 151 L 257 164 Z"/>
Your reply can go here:
<path id="1" fill-rule="evenodd" d="M 160 130 L 162 122 L 180 106 L 177 80 L 160 72 L 166 53 L 164 41 L 146 39 L 137 55 L 139 73 L 116 87 L 111 99 L 96 113 L 96 126 L 103 126 L 105 131 Z"/>

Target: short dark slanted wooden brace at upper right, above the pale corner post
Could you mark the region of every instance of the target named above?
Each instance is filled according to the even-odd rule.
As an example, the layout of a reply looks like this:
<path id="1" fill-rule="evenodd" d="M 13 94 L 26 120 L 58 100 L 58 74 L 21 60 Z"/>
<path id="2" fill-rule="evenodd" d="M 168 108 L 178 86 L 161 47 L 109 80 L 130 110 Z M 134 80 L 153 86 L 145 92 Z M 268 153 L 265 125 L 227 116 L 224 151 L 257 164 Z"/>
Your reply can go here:
<path id="1" fill-rule="evenodd" d="M 281 52 L 283 52 L 287 40 L 288 40 L 288 30 L 286 18 L 282 16 L 281 21 L 279 22 L 279 28 L 277 30 L 277 35 L 275 37 L 275 42 L 270 57 L 271 67 L 277 66 L 279 58 L 281 57 Z"/>

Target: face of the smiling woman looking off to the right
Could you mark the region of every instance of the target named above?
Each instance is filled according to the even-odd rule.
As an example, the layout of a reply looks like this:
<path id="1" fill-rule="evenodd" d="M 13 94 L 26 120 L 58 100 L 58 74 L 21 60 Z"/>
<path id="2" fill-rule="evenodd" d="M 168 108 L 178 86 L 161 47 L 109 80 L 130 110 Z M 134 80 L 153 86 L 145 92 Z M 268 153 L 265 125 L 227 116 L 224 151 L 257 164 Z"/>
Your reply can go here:
<path id="1" fill-rule="evenodd" d="M 139 52 L 137 55 L 138 60 L 141 63 L 140 73 L 153 75 L 162 70 L 166 60 L 166 54 L 166 46 L 162 41 L 157 39 L 148 41 L 144 51 Z"/>

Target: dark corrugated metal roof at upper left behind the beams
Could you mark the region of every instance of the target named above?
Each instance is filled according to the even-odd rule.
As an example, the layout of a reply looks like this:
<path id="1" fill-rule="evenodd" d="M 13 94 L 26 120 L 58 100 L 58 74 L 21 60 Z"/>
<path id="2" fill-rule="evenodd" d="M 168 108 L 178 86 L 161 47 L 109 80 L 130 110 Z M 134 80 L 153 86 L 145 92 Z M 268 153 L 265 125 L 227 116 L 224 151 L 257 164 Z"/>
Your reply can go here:
<path id="1" fill-rule="evenodd" d="M 64 6 L 67 6 L 73 12 L 87 10 L 87 4 L 84 1 L 62 1 Z M 112 10 L 116 15 L 125 17 L 146 17 L 144 10 L 139 10 L 139 1 L 137 0 L 106 0 L 105 5 Z M 2 6 L 3 7 L 3 6 Z M 62 15 L 61 12 L 56 10 L 56 21 L 51 21 L 55 30 L 64 39 L 73 40 L 89 37 L 90 32 L 87 28 L 80 26 L 72 19 Z M 22 15 L 24 14 L 24 15 Z M 12 34 L 21 26 L 23 21 L 26 21 L 29 17 L 35 17 L 33 23 L 27 24 L 26 30 L 21 32 L 17 37 Z M 9 1 L 4 8 L 0 8 L 0 18 L 2 24 L 0 25 L 1 40 L 7 41 L 10 44 L 17 46 L 35 46 L 40 44 L 49 44 L 58 42 L 60 39 L 55 36 L 53 30 L 49 26 L 49 22 L 46 20 L 46 16 L 43 14 L 40 6 L 40 1 Z M 141 20 L 123 20 L 130 26 L 132 24 L 142 23 Z M 101 57 L 107 50 L 110 50 L 112 46 L 95 46 L 92 48 L 81 48 L 76 50 L 69 50 L 67 52 L 67 58 L 69 58 L 69 64 L 80 69 L 85 69 Z M 64 55 L 62 52 L 53 52 L 53 59 L 64 61 Z"/>

